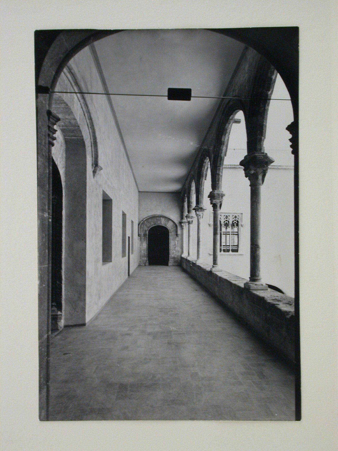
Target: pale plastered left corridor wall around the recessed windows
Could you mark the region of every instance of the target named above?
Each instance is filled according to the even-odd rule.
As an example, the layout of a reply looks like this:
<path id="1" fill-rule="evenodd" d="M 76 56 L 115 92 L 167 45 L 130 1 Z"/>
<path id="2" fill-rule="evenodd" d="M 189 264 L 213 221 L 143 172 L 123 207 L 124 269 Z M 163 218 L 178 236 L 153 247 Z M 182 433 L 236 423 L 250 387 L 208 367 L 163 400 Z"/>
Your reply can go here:
<path id="1" fill-rule="evenodd" d="M 70 61 L 81 91 L 103 92 L 103 87 L 89 49 L 86 47 Z M 69 91 L 62 74 L 56 90 Z M 102 170 L 92 172 L 91 141 L 80 102 L 74 94 L 62 94 L 80 124 L 87 154 L 87 232 L 86 232 L 86 322 L 110 299 L 128 277 L 128 256 L 122 257 L 122 210 L 127 214 L 127 240 L 131 220 L 138 218 L 138 190 L 124 152 L 112 111 L 105 96 L 84 95 L 96 131 L 99 164 Z M 102 263 L 102 192 L 112 199 L 112 262 Z M 130 256 L 131 272 L 138 264 L 137 237 Z"/>

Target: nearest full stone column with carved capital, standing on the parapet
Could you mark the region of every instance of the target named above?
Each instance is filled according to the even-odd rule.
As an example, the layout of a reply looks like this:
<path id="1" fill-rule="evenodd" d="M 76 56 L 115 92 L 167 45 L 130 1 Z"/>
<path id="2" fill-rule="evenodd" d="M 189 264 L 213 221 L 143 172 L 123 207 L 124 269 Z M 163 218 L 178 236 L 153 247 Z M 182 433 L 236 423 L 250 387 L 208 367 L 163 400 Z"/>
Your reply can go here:
<path id="1" fill-rule="evenodd" d="M 260 188 L 274 160 L 265 152 L 247 154 L 239 163 L 250 180 L 250 279 L 244 284 L 249 290 L 267 290 L 260 278 Z"/>

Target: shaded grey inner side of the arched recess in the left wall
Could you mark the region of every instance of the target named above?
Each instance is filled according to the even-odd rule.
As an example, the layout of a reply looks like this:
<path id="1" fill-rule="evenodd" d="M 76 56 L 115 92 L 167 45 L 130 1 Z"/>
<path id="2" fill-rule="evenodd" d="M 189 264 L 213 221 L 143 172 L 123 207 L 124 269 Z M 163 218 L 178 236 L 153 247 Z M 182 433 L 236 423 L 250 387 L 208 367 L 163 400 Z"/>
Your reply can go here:
<path id="1" fill-rule="evenodd" d="M 59 80 L 64 82 L 63 77 Z M 64 326 L 73 326 L 86 324 L 87 150 L 79 120 L 73 113 L 77 110 L 77 100 L 70 96 L 66 99 L 69 104 L 55 94 L 52 109 L 59 116 L 58 127 L 64 139 L 64 149 L 59 152 L 64 162 L 62 317 Z"/>

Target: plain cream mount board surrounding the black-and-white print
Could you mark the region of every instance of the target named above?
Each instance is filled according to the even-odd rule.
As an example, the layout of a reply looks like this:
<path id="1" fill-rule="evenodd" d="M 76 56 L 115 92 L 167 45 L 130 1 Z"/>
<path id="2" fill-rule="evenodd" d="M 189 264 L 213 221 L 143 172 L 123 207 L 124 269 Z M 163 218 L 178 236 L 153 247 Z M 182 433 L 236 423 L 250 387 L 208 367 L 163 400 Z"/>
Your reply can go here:
<path id="1" fill-rule="evenodd" d="M 109 15 L 114 7 L 114 17 Z M 333 1 L 46 1 L 2 5 L 1 237 L 2 239 L 2 413 L 5 449 L 224 449 L 335 450 L 337 446 L 337 156 L 338 8 Z M 196 9 L 194 9 L 196 8 Z M 142 9 L 142 10 L 140 10 Z M 170 14 L 174 11 L 175 14 Z M 243 15 L 243 11 L 245 14 Z M 67 14 L 70 14 L 67 16 Z M 290 25 L 300 28 L 300 290 L 302 419 L 269 422 L 66 422 L 37 420 L 37 207 L 34 43 L 37 29 L 229 28 Z M 165 26 L 164 26 L 165 23 Z M 328 68 L 332 70 L 328 70 Z M 20 69 L 20 70 L 18 70 Z M 334 104 L 334 101 L 336 103 Z M 317 131 L 318 111 L 328 113 L 327 133 Z M 326 116 L 325 116 L 326 117 Z M 316 118 L 316 119 L 314 119 Z M 324 122 L 324 121 L 323 121 Z M 20 133 L 18 133 L 18 129 Z M 20 152 L 18 152 L 20 149 Z M 321 149 L 325 152 L 315 153 Z M 5 154 L 6 152 L 6 154 Z M 307 152 L 311 153 L 308 158 Z M 6 155 L 6 157 L 4 156 Z M 334 191 L 333 191 L 334 190 Z M 334 196 L 334 198 L 333 198 Z M 334 200 L 334 204 L 333 204 Z M 334 208 L 333 208 L 334 207 Z M 323 222 L 321 245 L 311 242 L 315 217 Z M 333 213 L 332 213 L 333 212 Z M 18 226 L 24 225 L 24 233 Z M 311 246 L 311 249 L 310 249 Z M 332 249 L 334 248 L 334 249 Z M 13 252 L 16 250 L 17 252 Z M 19 260 L 19 261 L 18 261 Z M 322 308 L 324 304 L 324 308 Z M 25 308 L 22 306 L 25 305 Z M 28 318 L 27 320 L 27 311 Z M 13 327 L 15 322 L 15 327 Z"/>

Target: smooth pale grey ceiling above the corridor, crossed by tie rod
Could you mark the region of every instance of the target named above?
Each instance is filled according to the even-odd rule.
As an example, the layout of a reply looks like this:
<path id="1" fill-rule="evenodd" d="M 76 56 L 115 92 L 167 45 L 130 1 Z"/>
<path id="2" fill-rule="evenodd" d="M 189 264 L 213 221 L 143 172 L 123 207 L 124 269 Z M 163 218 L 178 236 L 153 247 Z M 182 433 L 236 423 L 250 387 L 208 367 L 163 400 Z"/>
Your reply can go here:
<path id="1" fill-rule="evenodd" d="M 207 30 L 128 30 L 96 41 L 109 92 L 222 96 L 244 46 Z M 140 191 L 176 192 L 196 156 L 219 99 L 112 96 Z"/>

